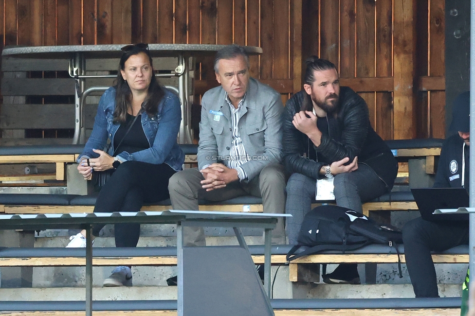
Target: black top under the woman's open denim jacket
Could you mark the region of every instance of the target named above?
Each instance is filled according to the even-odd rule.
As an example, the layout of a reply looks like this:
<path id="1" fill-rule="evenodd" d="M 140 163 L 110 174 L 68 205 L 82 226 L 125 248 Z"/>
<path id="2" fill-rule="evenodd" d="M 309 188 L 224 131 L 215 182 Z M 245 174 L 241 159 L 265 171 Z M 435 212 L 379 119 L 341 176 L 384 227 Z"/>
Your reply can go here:
<path id="1" fill-rule="evenodd" d="M 124 138 L 124 135 L 127 132 L 129 124 L 133 121 L 135 116 L 132 116 L 127 113 L 126 122 L 121 123 L 117 132 L 114 135 L 114 144 L 119 144 Z M 127 137 L 122 141 L 119 148 L 115 149 L 115 154 L 128 152 L 129 154 L 141 151 L 147 148 L 150 148 L 147 137 L 145 136 L 144 128 L 141 123 L 142 114 L 139 114 L 137 120 L 135 120 L 132 128 L 127 134 Z"/>

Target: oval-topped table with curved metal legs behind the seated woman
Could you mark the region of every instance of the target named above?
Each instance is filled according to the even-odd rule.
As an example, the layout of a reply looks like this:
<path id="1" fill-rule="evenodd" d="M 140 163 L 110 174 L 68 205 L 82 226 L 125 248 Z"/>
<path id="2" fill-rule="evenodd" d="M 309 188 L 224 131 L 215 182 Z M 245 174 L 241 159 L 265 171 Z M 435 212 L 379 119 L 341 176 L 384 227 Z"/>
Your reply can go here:
<path id="1" fill-rule="evenodd" d="M 86 75 L 86 58 L 120 58 L 121 47 L 127 44 L 111 45 L 64 45 L 64 46 L 30 46 L 5 48 L 2 56 L 28 57 L 38 59 L 71 58 L 69 74 L 75 79 L 74 89 L 74 137 L 73 144 L 85 142 L 83 122 L 84 99 L 95 91 L 104 91 L 109 87 L 91 87 L 84 90 L 87 78 L 110 78 L 116 75 Z M 214 56 L 226 45 L 211 44 L 149 44 L 148 49 L 152 57 L 178 57 L 178 65 L 174 74 L 156 73 L 161 77 L 178 77 L 178 95 L 182 103 L 182 122 L 180 124 L 179 143 L 192 143 L 191 135 L 191 108 L 189 105 L 189 71 L 187 59 L 196 56 Z M 259 47 L 245 46 L 249 55 L 262 53 Z"/>

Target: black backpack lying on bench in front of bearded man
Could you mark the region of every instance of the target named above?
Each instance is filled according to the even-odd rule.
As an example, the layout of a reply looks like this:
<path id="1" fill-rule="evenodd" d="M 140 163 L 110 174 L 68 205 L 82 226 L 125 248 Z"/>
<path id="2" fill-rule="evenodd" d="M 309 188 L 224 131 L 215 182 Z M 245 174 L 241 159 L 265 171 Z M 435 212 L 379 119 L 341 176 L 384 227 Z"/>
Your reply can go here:
<path id="1" fill-rule="evenodd" d="M 326 250 L 345 253 L 369 244 L 394 246 L 399 258 L 397 244 L 402 244 L 402 233 L 398 228 L 379 225 L 357 211 L 322 205 L 305 215 L 297 242 L 287 253 L 287 262 Z M 303 246 L 308 248 L 295 254 Z M 401 259 L 398 265 L 399 277 L 402 278 Z"/>

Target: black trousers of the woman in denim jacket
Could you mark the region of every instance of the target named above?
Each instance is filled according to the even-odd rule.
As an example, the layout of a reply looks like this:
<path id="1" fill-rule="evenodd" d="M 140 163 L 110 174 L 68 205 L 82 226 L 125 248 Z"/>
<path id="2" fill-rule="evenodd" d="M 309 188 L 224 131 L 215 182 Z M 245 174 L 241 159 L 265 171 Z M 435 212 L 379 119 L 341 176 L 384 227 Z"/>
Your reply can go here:
<path id="1" fill-rule="evenodd" d="M 120 164 L 97 196 L 94 212 L 138 212 L 144 202 L 153 203 L 170 197 L 168 180 L 176 173 L 169 165 L 142 161 Z M 104 225 L 95 225 L 98 236 Z M 135 247 L 139 241 L 140 224 L 115 224 L 115 246 Z"/>

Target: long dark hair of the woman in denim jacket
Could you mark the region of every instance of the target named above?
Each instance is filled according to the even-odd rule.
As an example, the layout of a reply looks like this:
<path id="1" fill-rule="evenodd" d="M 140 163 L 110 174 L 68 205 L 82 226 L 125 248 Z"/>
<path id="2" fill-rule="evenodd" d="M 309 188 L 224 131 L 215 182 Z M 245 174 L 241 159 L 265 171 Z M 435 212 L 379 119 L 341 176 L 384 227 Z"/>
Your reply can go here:
<path id="1" fill-rule="evenodd" d="M 122 77 L 120 70 L 125 69 L 125 63 L 132 55 L 137 55 L 139 53 L 145 53 L 148 56 L 150 61 L 150 67 L 152 70 L 152 77 L 150 79 L 150 86 L 148 86 L 147 96 L 145 97 L 144 102 L 142 103 L 142 108 L 148 116 L 154 116 L 157 114 L 158 105 L 162 98 L 165 95 L 164 89 L 158 83 L 157 78 L 155 78 L 155 71 L 153 70 L 152 57 L 148 52 L 148 49 L 131 46 L 131 48 L 122 53 L 119 62 L 119 72 L 117 73 L 116 86 L 115 86 L 115 111 L 114 111 L 114 123 L 124 123 L 126 122 L 127 109 L 132 106 L 132 91 L 128 87 L 128 83 Z"/>

